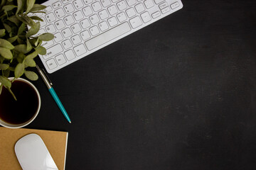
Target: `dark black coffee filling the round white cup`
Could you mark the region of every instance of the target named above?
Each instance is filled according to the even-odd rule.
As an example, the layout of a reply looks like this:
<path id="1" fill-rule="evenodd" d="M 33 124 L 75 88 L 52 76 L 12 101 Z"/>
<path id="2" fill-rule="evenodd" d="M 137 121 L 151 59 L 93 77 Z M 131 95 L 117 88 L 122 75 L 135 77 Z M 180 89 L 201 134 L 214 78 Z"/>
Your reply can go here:
<path id="1" fill-rule="evenodd" d="M 16 80 L 11 84 L 17 101 L 10 92 L 3 87 L 0 95 L 0 119 L 10 124 L 26 123 L 38 109 L 36 91 L 23 81 Z"/>

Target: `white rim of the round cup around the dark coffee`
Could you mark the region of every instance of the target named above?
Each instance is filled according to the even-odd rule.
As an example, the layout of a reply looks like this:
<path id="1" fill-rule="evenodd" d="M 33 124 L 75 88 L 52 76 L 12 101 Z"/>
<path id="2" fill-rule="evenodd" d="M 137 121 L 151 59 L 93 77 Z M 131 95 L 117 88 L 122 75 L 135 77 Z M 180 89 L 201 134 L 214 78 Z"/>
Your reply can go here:
<path id="1" fill-rule="evenodd" d="M 10 77 L 9 78 L 10 80 L 14 79 L 14 77 Z M 38 98 L 38 106 L 37 106 L 37 109 L 36 109 L 36 113 L 33 114 L 33 117 L 29 120 L 27 120 L 26 122 L 24 123 L 20 123 L 20 124 L 11 124 L 11 123 L 7 123 L 5 122 L 4 120 L 1 120 L 0 118 L 0 125 L 6 127 L 6 128 L 23 128 L 24 126 L 30 124 L 35 118 L 36 116 L 38 115 L 39 111 L 40 111 L 40 108 L 41 108 L 41 96 L 38 92 L 38 89 L 36 89 L 36 86 L 34 86 L 30 81 L 26 80 L 26 79 L 22 79 L 22 78 L 18 78 L 16 79 L 17 81 L 23 81 L 25 82 L 26 84 L 28 84 L 29 86 L 31 86 L 31 88 L 36 92 L 36 96 Z M 15 80 L 15 81 L 16 81 Z M 4 88 L 4 87 L 3 87 Z M 0 94 L 1 95 L 1 94 Z M 11 109 L 11 108 L 10 108 Z"/>

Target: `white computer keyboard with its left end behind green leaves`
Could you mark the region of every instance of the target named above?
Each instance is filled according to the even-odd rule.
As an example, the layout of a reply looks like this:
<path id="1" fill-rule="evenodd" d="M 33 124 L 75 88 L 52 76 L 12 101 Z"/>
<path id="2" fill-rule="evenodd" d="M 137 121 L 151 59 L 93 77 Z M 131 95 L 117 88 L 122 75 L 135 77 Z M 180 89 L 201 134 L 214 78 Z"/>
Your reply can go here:
<path id="1" fill-rule="evenodd" d="M 53 73 L 100 50 L 183 7 L 180 0 L 49 0 L 41 33 L 55 38 L 43 42 L 46 55 L 39 55 Z"/>

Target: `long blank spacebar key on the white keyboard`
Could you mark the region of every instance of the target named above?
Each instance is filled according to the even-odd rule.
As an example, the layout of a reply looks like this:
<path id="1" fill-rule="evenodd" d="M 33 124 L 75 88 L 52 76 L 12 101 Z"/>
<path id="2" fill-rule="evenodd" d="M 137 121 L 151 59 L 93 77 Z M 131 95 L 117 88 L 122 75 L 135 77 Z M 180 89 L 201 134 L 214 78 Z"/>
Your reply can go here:
<path id="1" fill-rule="evenodd" d="M 104 45 L 106 42 L 113 40 L 114 38 L 123 35 L 131 30 L 129 23 L 122 23 L 111 30 L 107 30 L 107 32 L 97 35 L 97 37 L 87 40 L 85 42 L 88 50 L 93 50 L 95 47 L 99 47 L 100 45 Z"/>

